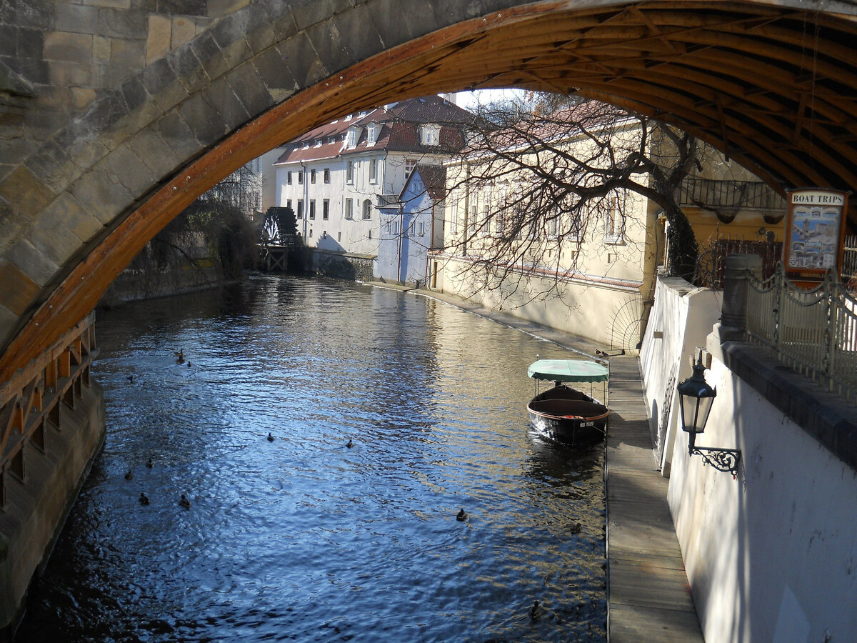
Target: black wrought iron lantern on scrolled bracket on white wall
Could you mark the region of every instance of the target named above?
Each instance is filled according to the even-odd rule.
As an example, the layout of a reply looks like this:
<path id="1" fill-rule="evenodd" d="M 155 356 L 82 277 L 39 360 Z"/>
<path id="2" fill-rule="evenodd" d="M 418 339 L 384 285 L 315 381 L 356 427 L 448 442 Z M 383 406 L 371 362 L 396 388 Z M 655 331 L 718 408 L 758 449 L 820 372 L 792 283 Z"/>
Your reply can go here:
<path id="1" fill-rule="evenodd" d="M 717 395 L 717 389 L 705 382 L 704 372 L 700 351 L 696 364 L 693 364 L 693 375 L 676 388 L 681 405 L 681 429 L 690 434 L 687 454 L 701 455 L 706 465 L 713 466 L 717 471 L 729 472 L 735 478 L 741 460 L 740 449 L 697 447 L 695 444 L 697 434 L 705 430 L 711 405 Z"/>

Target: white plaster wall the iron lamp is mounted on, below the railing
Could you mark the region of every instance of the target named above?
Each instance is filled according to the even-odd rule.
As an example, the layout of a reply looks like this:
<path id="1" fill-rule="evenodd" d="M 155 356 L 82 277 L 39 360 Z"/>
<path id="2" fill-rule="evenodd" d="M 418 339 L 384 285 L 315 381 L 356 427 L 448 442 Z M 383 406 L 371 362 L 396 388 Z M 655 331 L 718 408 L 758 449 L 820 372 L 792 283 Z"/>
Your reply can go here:
<path id="1" fill-rule="evenodd" d="M 719 359 L 706 380 L 697 444 L 740 448 L 739 477 L 688 459 L 682 433 L 668 496 L 705 640 L 857 640 L 855 472 Z"/>

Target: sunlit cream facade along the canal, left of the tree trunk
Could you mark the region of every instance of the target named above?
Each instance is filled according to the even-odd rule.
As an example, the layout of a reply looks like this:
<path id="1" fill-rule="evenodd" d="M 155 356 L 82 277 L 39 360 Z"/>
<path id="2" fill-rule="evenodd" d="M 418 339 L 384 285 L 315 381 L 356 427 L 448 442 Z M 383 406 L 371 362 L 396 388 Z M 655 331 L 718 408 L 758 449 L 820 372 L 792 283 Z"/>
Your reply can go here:
<path id="1" fill-rule="evenodd" d="M 615 147 L 626 147 L 623 139 L 637 135 L 634 123 L 611 123 Z M 633 350 L 661 243 L 657 208 L 621 188 L 608 190 L 584 211 L 568 201 L 538 205 L 544 196 L 538 183 L 545 179 L 528 169 L 540 165 L 559 173 L 550 157 L 560 148 L 569 156 L 594 158 L 590 134 L 540 134 L 553 150 L 515 150 L 513 162 L 499 167 L 486 169 L 494 161 L 484 153 L 449 163 L 445 250 L 433 256 L 437 287 L 597 346 Z M 480 178 L 474 182 L 474 176 Z M 531 207 L 539 208 L 538 220 Z"/>

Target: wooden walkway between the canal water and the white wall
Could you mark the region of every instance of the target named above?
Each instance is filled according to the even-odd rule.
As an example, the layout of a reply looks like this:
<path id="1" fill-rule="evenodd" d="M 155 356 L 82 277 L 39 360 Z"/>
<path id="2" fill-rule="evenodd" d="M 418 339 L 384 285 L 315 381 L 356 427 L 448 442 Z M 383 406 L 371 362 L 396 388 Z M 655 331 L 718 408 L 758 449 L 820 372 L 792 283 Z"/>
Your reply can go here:
<path id="1" fill-rule="evenodd" d="M 656 469 L 638 359 L 610 359 L 607 493 L 608 640 L 703 640 L 672 515 Z"/>

